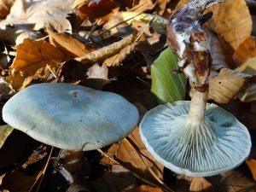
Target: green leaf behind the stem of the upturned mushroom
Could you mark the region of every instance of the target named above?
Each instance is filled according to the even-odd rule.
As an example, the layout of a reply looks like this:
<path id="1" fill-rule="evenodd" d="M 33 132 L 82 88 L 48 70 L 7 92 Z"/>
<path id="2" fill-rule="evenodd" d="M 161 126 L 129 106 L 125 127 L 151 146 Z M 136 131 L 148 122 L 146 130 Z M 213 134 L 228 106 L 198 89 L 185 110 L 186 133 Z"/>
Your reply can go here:
<path id="1" fill-rule="evenodd" d="M 171 72 L 177 68 L 177 56 L 169 48 L 165 49 L 151 66 L 151 91 L 160 104 L 176 102 L 185 97 L 185 75 Z"/>

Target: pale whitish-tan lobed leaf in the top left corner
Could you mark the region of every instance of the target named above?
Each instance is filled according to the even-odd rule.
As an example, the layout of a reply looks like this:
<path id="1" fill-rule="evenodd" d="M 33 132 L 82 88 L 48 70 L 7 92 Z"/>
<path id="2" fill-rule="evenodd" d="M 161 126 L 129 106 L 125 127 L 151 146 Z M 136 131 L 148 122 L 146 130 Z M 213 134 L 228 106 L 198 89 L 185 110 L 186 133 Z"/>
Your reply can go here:
<path id="1" fill-rule="evenodd" d="M 15 24 L 32 24 L 33 30 L 53 28 L 57 32 L 71 31 L 72 26 L 66 19 L 71 11 L 73 0 L 46 0 L 27 3 L 15 0 L 9 15 L 0 22 L 0 27 Z"/>

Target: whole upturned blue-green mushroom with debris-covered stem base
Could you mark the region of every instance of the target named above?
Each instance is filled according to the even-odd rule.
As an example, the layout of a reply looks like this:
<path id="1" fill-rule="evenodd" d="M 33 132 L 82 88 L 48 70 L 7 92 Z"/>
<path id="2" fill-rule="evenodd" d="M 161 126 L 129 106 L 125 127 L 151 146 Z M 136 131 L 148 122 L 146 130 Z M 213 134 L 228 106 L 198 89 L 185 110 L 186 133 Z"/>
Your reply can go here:
<path id="1" fill-rule="evenodd" d="M 179 69 L 195 89 L 191 102 L 173 102 L 148 111 L 140 135 L 148 151 L 173 172 L 207 177 L 239 166 L 250 153 L 247 128 L 215 104 L 207 104 L 211 55 L 201 24 L 218 3 L 192 0 L 170 20 L 167 43 L 180 59 Z"/>

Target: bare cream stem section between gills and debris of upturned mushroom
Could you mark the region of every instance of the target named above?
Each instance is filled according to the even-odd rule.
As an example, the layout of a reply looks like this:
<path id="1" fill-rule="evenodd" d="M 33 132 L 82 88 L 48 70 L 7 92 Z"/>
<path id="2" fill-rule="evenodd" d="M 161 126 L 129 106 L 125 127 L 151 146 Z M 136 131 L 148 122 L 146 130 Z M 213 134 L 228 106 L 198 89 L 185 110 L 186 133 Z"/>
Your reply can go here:
<path id="1" fill-rule="evenodd" d="M 189 108 L 189 123 L 201 124 L 205 118 L 208 90 L 204 92 L 195 90 Z"/>

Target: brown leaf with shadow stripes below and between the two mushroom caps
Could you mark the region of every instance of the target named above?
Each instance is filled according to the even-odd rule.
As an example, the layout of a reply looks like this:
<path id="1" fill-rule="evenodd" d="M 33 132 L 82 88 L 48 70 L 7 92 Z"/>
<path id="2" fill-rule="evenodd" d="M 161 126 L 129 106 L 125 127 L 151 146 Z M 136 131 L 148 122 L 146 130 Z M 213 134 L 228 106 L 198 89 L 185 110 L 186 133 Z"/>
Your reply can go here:
<path id="1" fill-rule="evenodd" d="M 158 183 L 155 179 L 162 179 L 163 166 L 154 160 L 148 150 L 145 148 L 141 138 L 139 137 L 138 128 L 119 143 L 108 149 L 107 154 L 114 156 L 132 172 L 147 178 L 147 180 Z M 105 163 L 110 163 L 108 158 L 104 158 Z"/>

